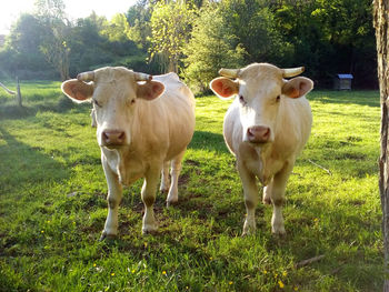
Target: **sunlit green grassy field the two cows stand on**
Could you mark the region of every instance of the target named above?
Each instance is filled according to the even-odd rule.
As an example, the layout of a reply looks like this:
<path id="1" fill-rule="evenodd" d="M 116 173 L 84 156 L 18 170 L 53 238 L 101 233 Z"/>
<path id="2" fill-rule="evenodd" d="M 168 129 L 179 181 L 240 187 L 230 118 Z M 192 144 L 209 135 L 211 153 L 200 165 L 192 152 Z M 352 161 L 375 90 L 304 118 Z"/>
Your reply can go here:
<path id="1" fill-rule="evenodd" d="M 203 97 L 179 204 L 157 197 L 158 234 L 141 235 L 139 181 L 124 189 L 120 238 L 99 242 L 107 185 L 90 105 L 69 103 L 58 82 L 21 85 L 22 110 L 0 91 L 0 291 L 381 290 L 378 92 L 309 95 L 313 128 L 288 183 L 286 238 L 271 235 L 261 203 L 257 233 L 240 236 L 242 188 L 221 134 L 229 102 Z"/>

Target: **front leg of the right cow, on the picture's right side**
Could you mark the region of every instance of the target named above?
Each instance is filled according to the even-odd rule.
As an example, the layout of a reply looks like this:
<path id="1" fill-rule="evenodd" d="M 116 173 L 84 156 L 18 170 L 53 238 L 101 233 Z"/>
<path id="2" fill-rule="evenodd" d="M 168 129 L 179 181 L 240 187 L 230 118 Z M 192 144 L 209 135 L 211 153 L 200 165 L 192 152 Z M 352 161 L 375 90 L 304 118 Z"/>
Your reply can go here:
<path id="1" fill-rule="evenodd" d="M 278 172 L 270 187 L 270 198 L 273 205 L 273 212 L 271 217 L 271 232 L 275 234 L 283 235 L 286 233 L 283 225 L 282 205 L 285 202 L 285 190 L 287 188 L 287 181 L 292 170 L 292 163 L 288 163 L 280 172 Z"/>

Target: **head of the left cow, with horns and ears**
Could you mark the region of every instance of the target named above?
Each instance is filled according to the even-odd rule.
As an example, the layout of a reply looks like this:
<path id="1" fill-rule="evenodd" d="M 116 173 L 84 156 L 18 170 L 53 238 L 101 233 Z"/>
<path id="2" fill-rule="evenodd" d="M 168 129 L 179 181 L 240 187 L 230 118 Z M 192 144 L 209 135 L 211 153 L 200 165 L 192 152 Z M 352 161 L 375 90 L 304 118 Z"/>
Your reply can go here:
<path id="1" fill-rule="evenodd" d="M 130 129 L 140 99 L 153 100 L 164 91 L 161 82 L 151 79 L 122 67 L 107 67 L 80 73 L 61 88 L 76 102 L 93 103 L 99 145 L 119 148 L 131 143 Z"/>

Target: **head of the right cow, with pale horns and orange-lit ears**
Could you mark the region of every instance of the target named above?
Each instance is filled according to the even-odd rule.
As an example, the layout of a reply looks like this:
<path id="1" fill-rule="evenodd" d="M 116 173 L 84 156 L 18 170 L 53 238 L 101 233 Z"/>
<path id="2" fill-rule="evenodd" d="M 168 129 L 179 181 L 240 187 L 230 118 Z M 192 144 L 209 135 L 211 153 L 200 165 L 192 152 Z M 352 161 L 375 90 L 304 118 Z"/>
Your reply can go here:
<path id="1" fill-rule="evenodd" d="M 243 141 L 263 144 L 275 140 L 279 108 L 285 99 L 297 99 L 312 90 L 313 82 L 308 78 L 285 79 L 302 71 L 302 67 L 279 69 L 268 63 L 221 69 L 219 73 L 223 77 L 213 79 L 210 88 L 221 99 L 238 95 Z"/>

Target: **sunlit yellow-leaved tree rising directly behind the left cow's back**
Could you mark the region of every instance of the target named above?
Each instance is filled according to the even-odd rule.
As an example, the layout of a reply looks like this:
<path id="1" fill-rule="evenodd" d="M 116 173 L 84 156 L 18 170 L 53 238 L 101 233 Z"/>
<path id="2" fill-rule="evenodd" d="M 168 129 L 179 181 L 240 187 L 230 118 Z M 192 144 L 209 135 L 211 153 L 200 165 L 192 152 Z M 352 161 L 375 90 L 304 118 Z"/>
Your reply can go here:
<path id="1" fill-rule="evenodd" d="M 183 1 L 158 2 L 150 19 L 150 58 L 159 57 L 163 71 L 178 72 L 182 48 L 189 40 L 194 10 Z"/>

